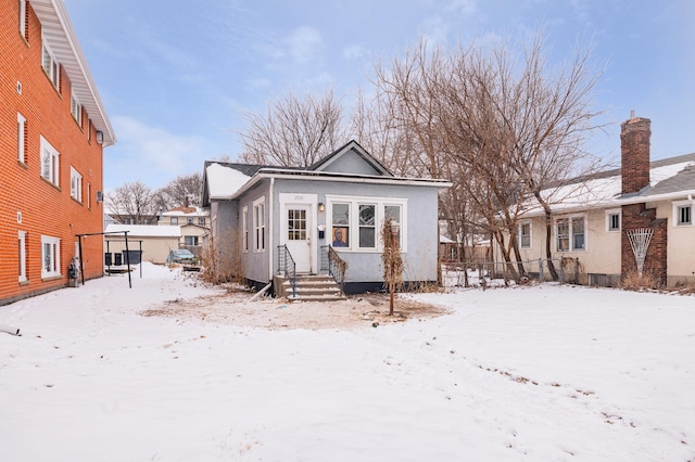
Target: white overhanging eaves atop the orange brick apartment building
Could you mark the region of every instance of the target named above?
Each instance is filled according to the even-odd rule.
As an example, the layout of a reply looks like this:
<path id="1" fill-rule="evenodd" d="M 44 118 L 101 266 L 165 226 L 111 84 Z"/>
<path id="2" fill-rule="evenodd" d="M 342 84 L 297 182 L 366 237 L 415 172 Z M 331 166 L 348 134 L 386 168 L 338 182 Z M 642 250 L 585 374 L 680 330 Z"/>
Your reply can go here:
<path id="1" fill-rule="evenodd" d="M 94 128 L 103 133 L 103 145 L 115 144 L 116 137 L 106 115 L 97 85 L 87 66 L 73 24 L 62 0 L 31 0 L 31 8 L 41 22 L 41 35 L 67 73 L 79 103 L 87 110 Z"/>

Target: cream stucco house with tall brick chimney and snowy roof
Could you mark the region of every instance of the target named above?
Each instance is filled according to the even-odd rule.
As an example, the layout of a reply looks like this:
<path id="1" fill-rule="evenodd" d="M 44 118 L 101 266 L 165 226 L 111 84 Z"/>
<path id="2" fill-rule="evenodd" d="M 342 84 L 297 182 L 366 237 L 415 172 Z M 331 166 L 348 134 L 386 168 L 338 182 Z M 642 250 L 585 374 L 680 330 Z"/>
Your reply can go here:
<path id="1" fill-rule="evenodd" d="M 579 262 L 579 281 L 615 285 L 643 271 L 669 286 L 695 282 L 695 154 L 649 162 L 650 120 L 622 124 L 622 168 L 547 189 L 552 257 Z M 544 259 L 545 217 L 527 203 L 517 239 L 525 260 Z M 639 264 L 639 247 L 646 252 Z M 500 254 L 495 252 L 495 254 Z"/>

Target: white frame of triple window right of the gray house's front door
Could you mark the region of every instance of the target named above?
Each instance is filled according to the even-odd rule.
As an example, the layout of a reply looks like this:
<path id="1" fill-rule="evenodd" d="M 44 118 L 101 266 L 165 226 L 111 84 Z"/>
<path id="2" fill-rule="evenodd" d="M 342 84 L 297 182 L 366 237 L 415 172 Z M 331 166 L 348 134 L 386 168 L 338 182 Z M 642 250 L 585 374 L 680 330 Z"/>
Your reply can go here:
<path id="1" fill-rule="evenodd" d="M 348 224 L 333 223 L 333 206 L 336 204 L 348 204 L 349 216 Z M 340 252 L 358 252 L 358 253 L 377 253 L 383 251 L 381 242 L 381 227 L 386 218 L 386 207 L 400 207 L 401 222 L 399 240 L 401 243 L 401 252 L 407 253 L 407 198 L 395 197 L 370 197 L 370 196 L 343 196 L 343 195 L 326 195 L 326 226 L 328 227 L 328 236 L 332 242 L 334 228 L 348 228 L 346 247 L 336 247 Z M 359 247 L 359 206 L 375 205 L 375 246 Z"/>

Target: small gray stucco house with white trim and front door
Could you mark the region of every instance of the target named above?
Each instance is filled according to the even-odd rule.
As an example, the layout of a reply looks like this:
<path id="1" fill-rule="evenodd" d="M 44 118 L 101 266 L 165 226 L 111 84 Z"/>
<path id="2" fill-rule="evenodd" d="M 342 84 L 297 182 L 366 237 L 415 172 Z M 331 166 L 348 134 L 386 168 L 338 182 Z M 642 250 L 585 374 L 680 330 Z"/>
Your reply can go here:
<path id="1" fill-rule="evenodd" d="M 233 236 L 217 252 L 238 253 L 250 285 L 330 273 L 354 294 L 383 287 L 384 220 L 399 229 L 404 282 L 437 281 L 438 192 L 448 187 L 394 177 L 351 141 L 306 168 L 208 161 L 202 205 L 211 213 L 213 242 Z"/>

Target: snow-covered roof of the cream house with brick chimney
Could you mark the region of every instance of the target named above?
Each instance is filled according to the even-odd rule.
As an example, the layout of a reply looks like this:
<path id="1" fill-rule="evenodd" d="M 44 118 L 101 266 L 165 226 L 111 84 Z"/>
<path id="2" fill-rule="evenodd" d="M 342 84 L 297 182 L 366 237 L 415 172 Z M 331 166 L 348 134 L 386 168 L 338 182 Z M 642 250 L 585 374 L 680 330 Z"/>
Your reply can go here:
<path id="1" fill-rule="evenodd" d="M 634 194 L 622 194 L 621 169 L 578 177 L 542 191 L 555 213 L 590 207 L 619 207 L 624 204 L 655 202 L 695 194 L 695 153 L 652 162 L 649 187 Z M 525 216 L 541 215 L 538 202 L 529 200 Z"/>

